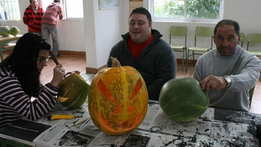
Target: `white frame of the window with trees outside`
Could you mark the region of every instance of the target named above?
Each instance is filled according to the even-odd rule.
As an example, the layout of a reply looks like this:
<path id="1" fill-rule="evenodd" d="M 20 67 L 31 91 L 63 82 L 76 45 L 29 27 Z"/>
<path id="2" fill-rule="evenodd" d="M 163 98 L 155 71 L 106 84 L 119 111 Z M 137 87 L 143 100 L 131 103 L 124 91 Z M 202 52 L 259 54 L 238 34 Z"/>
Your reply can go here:
<path id="1" fill-rule="evenodd" d="M 184 18 L 165 18 L 154 16 L 154 1 L 149 0 L 149 11 L 152 17 L 152 21 L 156 22 L 201 22 L 201 23 L 217 23 L 223 19 L 224 14 L 224 0 L 219 0 L 219 19 L 204 19 L 204 18 L 186 18 L 187 16 L 187 0 L 184 0 Z"/>

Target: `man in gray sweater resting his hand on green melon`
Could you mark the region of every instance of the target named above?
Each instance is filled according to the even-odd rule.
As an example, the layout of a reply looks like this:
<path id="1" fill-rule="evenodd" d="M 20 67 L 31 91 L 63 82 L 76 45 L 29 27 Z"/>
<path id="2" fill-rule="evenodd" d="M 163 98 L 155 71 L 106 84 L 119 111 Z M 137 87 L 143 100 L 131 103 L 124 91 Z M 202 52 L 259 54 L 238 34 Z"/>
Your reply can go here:
<path id="1" fill-rule="evenodd" d="M 216 49 L 200 56 L 194 78 L 210 99 L 210 107 L 249 112 L 248 91 L 257 83 L 261 60 L 241 48 L 240 27 L 221 20 L 214 29 Z"/>

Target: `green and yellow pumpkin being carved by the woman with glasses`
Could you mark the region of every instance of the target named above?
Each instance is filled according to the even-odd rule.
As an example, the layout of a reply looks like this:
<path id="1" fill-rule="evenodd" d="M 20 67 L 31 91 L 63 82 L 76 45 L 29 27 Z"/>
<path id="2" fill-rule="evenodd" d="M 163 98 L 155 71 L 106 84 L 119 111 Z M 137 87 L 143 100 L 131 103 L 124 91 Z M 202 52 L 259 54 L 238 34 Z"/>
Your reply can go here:
<path id="1" fill-rule="evenodd" d="M 81 75 L 72 73 L 59 85 L 58 101 L 66 108 L 80 108 L 87 99 L 89 88 Z"/>

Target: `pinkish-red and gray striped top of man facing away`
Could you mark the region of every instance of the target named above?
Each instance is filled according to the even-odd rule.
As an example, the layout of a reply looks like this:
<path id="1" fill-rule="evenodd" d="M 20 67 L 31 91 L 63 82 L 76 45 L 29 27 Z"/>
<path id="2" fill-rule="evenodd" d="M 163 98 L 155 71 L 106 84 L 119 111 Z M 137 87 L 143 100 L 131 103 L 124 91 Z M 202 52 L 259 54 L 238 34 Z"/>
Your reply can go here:
<path id="1" fill-rule="evenodd" d="M 57 17 L 59 15 L 59 19 L 63 19 L 63 11 L 59 3 L 52 2 L 46 10 L 42 17 L 43 24 L 49 25 L 57 25 Z"/>

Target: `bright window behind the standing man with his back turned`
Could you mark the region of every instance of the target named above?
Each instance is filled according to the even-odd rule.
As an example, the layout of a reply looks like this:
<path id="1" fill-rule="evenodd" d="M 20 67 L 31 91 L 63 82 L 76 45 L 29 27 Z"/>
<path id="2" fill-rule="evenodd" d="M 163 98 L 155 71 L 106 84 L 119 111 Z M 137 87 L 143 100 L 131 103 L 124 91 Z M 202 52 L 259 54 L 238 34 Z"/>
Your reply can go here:
<path id="1" fill-rule="evenodd" d="M 42 0 L 43 10 L 52 2 L 53 0 Z M 60 4 L 65 18 L 83 18 L 82 0 L 61 0 Z"/>

